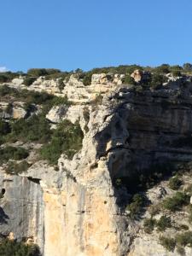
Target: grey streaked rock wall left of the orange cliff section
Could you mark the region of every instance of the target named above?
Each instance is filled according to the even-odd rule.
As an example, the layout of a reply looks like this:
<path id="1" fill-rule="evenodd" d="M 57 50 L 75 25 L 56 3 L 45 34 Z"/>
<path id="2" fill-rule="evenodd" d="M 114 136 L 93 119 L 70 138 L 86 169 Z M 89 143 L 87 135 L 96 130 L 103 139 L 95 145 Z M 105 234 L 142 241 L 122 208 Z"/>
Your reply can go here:
<path id="1" fill-rule="evenodd" d="M 1 235 L 19 239 L 32 238 L 44 250 L 43 191 L 30 178 L 10 176 L 1 170 Z"/>

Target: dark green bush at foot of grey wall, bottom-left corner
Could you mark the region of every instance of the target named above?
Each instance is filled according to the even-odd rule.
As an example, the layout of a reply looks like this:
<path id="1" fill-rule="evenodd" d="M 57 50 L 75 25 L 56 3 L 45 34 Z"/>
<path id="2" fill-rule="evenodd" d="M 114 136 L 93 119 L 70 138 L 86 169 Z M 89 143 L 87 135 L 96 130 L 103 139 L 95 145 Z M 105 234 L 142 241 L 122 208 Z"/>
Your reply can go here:
<path id="1" fill-rule="evenodd" d="M 37 245 L 26 245 L 24 242 L 3 239 L 0 242 L 0 256 L 40 256 Z"/>

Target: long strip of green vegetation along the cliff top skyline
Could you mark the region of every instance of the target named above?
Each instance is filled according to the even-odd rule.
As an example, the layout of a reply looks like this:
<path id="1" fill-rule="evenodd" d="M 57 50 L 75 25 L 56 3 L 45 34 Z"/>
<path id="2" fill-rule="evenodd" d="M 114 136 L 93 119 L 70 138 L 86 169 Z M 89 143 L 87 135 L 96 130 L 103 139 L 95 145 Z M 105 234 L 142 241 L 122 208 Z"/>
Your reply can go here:
<path id="1" fill-rule="evenodd" d="M 125 77 L 125 82 L 131 81 L 129 78 L 129 74 L 131 74 L 134 70 L 143 70 L 154 74 L 166 74 L 172 73 L 174 76 L 179 76 L 182 74 L 191 74 L 192 73 L 192 64 L 184 63 L 183 66 L 174 65 L 171 66 L 169 64 L 162 64 L 159 67 L 142 67 L 139 65 L 119 65 L 118 67 L 97 67 L 93 68 L 88 72 L 84 72 L 82 69 L 78 68 L 76 70 L 72 70 L 70 72 L 61 71 L 55 68 L 31 68 L 27 71 L 27 73 L 17 72 L 4 72 L 0 73 L 0 83 L 9 83 L 12 79 L 24 77 L 25 84 L 29 86 L 35 79 L 43 76 L 44 79 L 69 79 L 71 74 L 76 73 L 79 75 L 79 79 L 83 80 L 84 85 L 89 85 L 91 81 L 91 76 L 93 73 L 118 73 L 128 75 Z M 127 80 L 128 79 L 128 80 Z"/>

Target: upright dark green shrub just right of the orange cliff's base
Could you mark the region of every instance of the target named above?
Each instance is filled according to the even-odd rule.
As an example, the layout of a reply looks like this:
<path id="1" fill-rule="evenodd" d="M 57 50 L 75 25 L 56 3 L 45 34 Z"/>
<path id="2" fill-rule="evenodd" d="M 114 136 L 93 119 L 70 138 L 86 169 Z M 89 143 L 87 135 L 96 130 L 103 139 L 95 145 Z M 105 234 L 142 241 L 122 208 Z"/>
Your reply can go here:
<path id="1" fill-rule="evenodd" d="M 142 212 L 143 209 L 143 196 L 140 194 L 135 194 L 132 197 L 131 204 L 126 207 L 126 210 L 130 211 L 131 218 L 137 217 Z"/>

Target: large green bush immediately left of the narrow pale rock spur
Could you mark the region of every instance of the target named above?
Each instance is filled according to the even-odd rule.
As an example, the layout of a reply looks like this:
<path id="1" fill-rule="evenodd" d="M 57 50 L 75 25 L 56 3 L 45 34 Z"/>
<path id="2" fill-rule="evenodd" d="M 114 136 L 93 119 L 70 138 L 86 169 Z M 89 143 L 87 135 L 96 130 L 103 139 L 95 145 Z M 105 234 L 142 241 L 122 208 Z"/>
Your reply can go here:
<path id="1" fill-rule="evenodd" d="M 65 120 L 53 131 L 50 143 L 41 148 L 40 154 L 44 160 L 48 160 L 53 165 L 57 163 L 62 153 L 72 159 L 73 155 L 82 147 L 83 137 L 84 134 L 79 123 L 76 122 L 73 125 L 70 121 Z"/>

